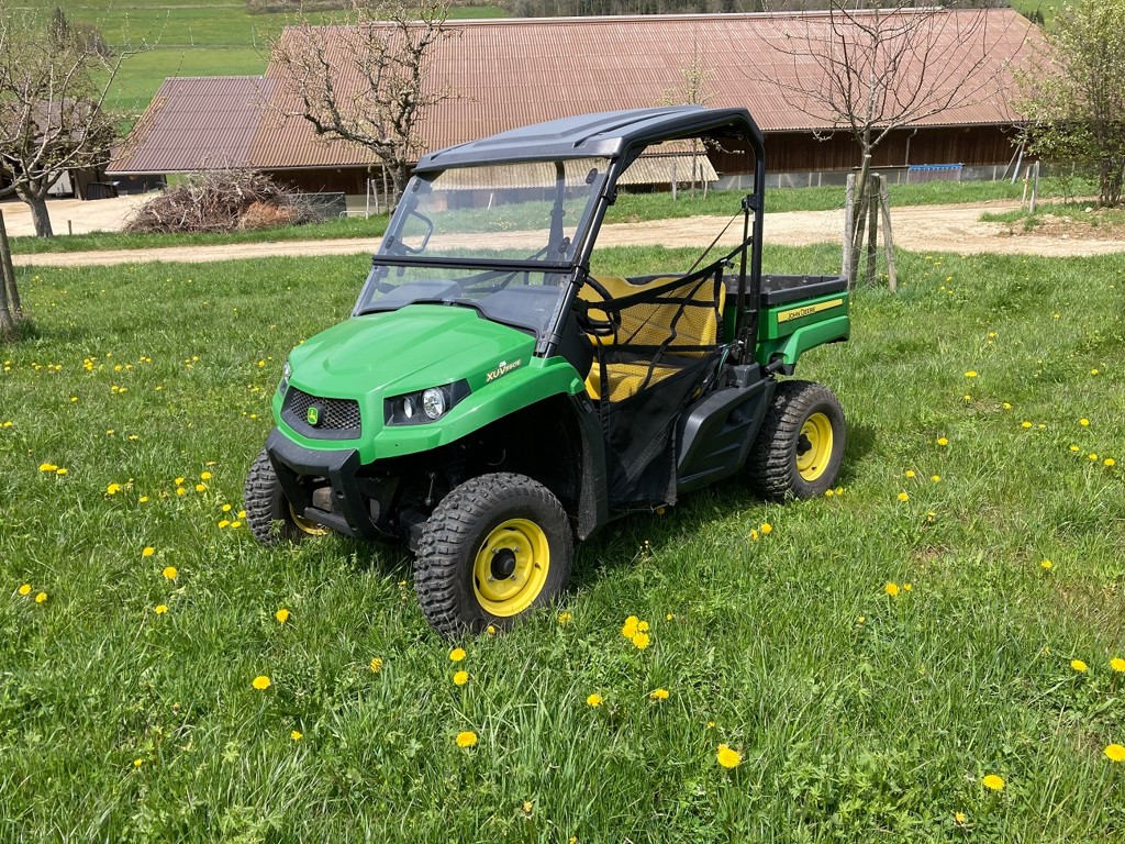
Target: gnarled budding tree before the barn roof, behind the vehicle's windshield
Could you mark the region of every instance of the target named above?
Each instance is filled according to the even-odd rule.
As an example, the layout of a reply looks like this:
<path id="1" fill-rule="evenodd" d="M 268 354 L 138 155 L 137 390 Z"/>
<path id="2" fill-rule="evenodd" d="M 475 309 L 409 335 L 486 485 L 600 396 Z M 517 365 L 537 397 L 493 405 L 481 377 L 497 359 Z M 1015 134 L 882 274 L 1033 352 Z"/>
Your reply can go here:
<path id="1" fill-rule="evenodd" d="M 448 14 L 448 0 L 356 0 L 342 26 L 303 17 L 271 45 L 270 71 L 284 87 L 273 108 L 369 150 L 397 199 L 421 152 L 422 114 L 451 96 L 426 84 Z"/>

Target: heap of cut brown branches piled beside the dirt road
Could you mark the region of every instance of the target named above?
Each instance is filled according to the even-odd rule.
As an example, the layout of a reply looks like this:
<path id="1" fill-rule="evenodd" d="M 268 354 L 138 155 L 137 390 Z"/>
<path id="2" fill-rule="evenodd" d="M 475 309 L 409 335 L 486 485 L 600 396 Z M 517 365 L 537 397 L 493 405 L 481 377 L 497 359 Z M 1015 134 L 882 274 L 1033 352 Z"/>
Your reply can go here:
<path id="1" fill-rule="evenodd" d="M 145 203 L 125 226 L 132 234 L 249 232 L 321 219 L 315 197 L 288 190 L 249 170 L 186 178 Z"/>

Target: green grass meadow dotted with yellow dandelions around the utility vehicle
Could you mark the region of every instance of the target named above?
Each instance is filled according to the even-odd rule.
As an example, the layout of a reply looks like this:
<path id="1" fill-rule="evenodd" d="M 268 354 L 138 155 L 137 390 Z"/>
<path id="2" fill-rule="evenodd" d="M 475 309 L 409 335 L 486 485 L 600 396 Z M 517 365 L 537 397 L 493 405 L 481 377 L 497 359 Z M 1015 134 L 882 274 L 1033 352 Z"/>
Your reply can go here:
<path id="1" fill-rule="evenodd" d="M 612 524 L 457 664 L 402 551 L 238 517 L 281 361 L 366 263 L 17 270 L 0 839 L 1125 841 L 1125 259 L 903 253 L 799 367 L 848 415 L 836 494 Z"/>

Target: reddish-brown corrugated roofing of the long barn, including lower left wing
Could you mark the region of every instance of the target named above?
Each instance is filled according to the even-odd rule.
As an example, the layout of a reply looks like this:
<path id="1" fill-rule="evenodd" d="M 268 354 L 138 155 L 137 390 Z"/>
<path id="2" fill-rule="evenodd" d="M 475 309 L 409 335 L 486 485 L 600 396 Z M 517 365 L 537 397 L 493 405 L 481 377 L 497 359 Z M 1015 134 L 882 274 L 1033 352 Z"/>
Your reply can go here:
<path id="1" fill-rule="evenodd" d="M 880 14 L 892 18 L 914 12 Z M 1008 89 L 1012 88 L 1008 64 L 1041 43 L 1038 29 L 1012 9 L 953 10 L 944 12 L 943 20 L 934 32 L 933 51 L 942 56 L 940 66 L 926 72 L 937 72 L 937 86 L 942 80 L 952 86 L 982 62 L 974 69 L 969 88 L 983 86 L 989 90 L 911 125 L 1004 125 L 1017 120 L 1008 104 Z M 969 37 L 965 30 L 972 21 L 982 23 Z M 708 106 L 748 108 L 766 133 L 832 128 L 829 115 L 818 115 L 812 102 L 801 107 L 799 95 L 786 90 L 807 86 L 810 78 L 820 74 L 806 53 L 831 41 L 830 19 L 825 12 L 457 20 L 448 27 L 451 35 L 435 48 L 426 84 L 451 97 L 423 113 L 420 153 L 558 117 L 683 101 L 676 92 L 683 89 L 683 71 L 693 61 L 706 77 Z M 318 27 L 317 32 L 326 38 L 333 65 L 346 68 L 344 28 Z M 286 42 L 296 37 L 294 29 L 282 34 Z M 921 72 L 920 63 L 903 68 L 897 93 L 909 90 Z M 169 80 L 165 88 L 189 81 L 205 82 Z M 242 107 L 236 118 L 223 111 L 248 101 L 234 88 L 223 88 L 249 84 L 245 78 L 213 81 L 218 88 L 210 101 L 202 88 L 198 93 L 187 87 L 161 89 L 145 115 L 147 119 L 152 113 L 153 125 L 147 132 L 155 140 L 143 136 L 134 144 L 137 154 L 127 159 L 132 170 L 141 170 L 142 164 L 145 172 L 182 170 L 184 160 L 195 155 L 194 167 L 188 168 L 194 169 L 208 156 L 214 159 L 216 149 L 244 150 L 246 163 L 261 169 L 356 167 L 376 161 L 372 153 L 356 144 L 320 137 L 306 120 L 285 117 L 294 110 L 295 99 L 276 62 L 267 70 L 266 82 L 258 82 L 267 86 L 270 97 L 270 108 L 260 124 L 253 108 Z M 362 101 L 356 74 L 340 73 L 335 86 L 341 99 L 357 97 Z M 192 102 L 181 108 L 176 100 L 183 96 L 190 96 Z M 161 102 L 162 97 L 166 101 Z M 200 131 L 200 120 L 188 117 L 192 114 L 207 115 L 216 124 L 216 134 Z M 174 125 L 169 123 L 173 115 Z M 252 125 L 258 131 L 248 142 Z M 225 146 L 216 146 L 216 141 Z M 178 167 L 155 165 L 173 160 Z M 124 171 L 116 164 L 114 170 Z"/>

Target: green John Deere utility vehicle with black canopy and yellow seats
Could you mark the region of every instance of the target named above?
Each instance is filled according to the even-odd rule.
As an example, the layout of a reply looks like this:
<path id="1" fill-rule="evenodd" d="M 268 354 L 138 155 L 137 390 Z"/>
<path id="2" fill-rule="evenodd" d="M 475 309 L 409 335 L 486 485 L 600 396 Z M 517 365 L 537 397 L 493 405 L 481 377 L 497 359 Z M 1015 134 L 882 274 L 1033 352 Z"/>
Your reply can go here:
<path id="1" fill-rule="evenodd" d="M 726 245 L 686 271 L 598 270 L 619 191 L 719 174 L 749 186 Z M 424 156 L 351 318 L 285 365 L 254 536 L 408 544 L 422 611 L 453 636 L 556 598 L 575 539 L 623 514 L 737 473 L 772 500 L 824 493 L 843 411 L 778 376 L 847 339 L 848 290 L 762 275 L 764 183 L 745 109 L 587 115 Z"/>

